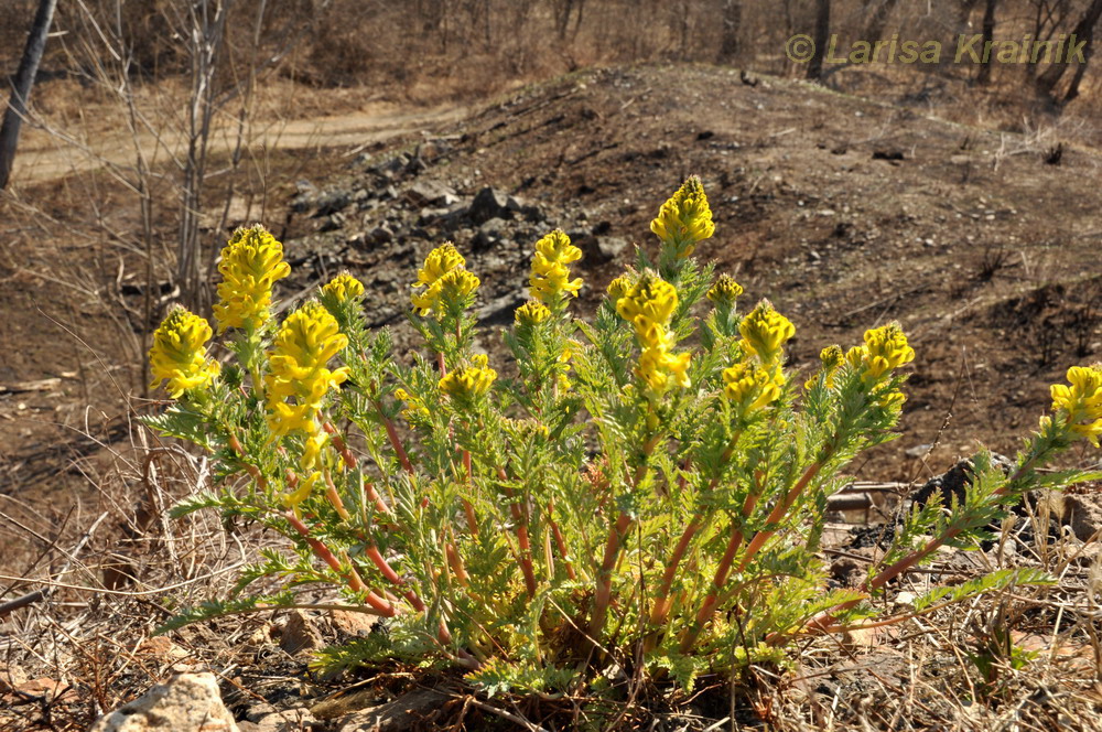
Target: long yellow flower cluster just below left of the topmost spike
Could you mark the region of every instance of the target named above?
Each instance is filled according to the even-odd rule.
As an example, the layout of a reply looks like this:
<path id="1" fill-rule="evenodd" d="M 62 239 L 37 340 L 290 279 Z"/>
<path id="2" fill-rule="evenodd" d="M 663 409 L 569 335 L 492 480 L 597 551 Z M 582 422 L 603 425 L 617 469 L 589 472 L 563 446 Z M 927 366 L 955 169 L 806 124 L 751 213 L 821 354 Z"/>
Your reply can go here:
<path id="1" fill-rule="evenodd" d="M 649 271 L 616 300 L 616 312 L 635 326 L 636 338 L 642 348 L 636 376 L 653 397 L 660 397 L 674 385 L 689 386 L 690 354 L 672 353 L 677 341 L 669 325 L 677 306 L 677 289 Z"/>

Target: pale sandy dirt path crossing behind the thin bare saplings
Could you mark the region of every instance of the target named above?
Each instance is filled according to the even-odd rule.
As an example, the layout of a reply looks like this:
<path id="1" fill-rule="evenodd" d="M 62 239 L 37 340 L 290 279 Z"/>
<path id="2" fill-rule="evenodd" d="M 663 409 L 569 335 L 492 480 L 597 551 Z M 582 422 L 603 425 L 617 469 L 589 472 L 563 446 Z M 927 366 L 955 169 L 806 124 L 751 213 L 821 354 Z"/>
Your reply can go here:
<path id="1" fill-rule="evenodd" d="M 256 126 L 248 142 L 253 151 L 303 150 L 341 146 L 366 146 L 426 127 L 454 122 L 467 114 L 467 108 L 441 106 L 410 110 L 396 105 L 374 105 L 347 115 L 313 117 Z M 179 126 L 177 126 L 179 127 Z M 180 158 L 185 149 L 182 129 L 163 134 L 142 132 L 142 153 L 151 163 Z M 236 128 L 224 125 L 210 136 L 212 152 L 227 152 L 237 146 Z M 15 157 L 13 180 L 41 183 L 75 172 L 104 166 L 129 168 L 134 164 L 136 150 L 129 132 L 107 132 L 71 139 L 43 128 L 28 130 Z"/>

